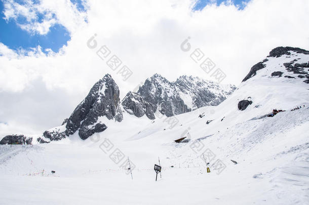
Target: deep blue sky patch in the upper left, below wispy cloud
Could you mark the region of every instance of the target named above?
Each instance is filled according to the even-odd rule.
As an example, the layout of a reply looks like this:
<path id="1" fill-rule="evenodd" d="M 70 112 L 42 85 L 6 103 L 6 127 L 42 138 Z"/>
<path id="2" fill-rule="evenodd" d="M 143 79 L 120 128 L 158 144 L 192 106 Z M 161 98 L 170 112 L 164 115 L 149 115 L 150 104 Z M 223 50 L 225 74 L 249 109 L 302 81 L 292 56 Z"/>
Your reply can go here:
<path id="1" fill-rule="evenodd" d="M 23 0 L 15 2 L 24 5 Z M 32 2 L 37 4 L 39 1 L 34 0 Z M 79 11 L 86 11 L 80 0 L 71 0 L 71 2 L 76 5 Z M 41 23 L 44 16 L 45 13 L 37 13 L 36 21 Z M 47 34 L 30 33 L 18 26 L 18 24 L 27 23 L 24 16 L 18 16 L 17 19 L 10 19 L 9 21 L 4 18 L 4 0 L 0 0 L 0 42 L 15 51 L 19 49 L 29 50 L 40 45 L 44 53 L 47 53 L 46 49 L 58 52 L 70 40 L 70 32 L 61 24 L 54 24 Z M 55 17 L 53 16 L 53 18 Z"/>

